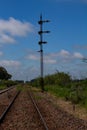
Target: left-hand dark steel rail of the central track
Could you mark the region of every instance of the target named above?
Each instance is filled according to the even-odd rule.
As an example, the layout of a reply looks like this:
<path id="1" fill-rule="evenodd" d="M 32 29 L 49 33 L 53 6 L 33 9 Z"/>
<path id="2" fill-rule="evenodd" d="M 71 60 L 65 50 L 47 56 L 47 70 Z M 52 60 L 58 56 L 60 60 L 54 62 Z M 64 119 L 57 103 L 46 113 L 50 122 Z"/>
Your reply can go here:
<path id="1" fill-rule="evenodd" d="M 2 123 L 2 121 L 4 120 L 6 114 L 8 113 L 9 109 L 11 108 L 12 104 L 14 103 L 15 99 L 17 98 L 17 96 L 19 95 L 20 91 L 18 91 L 15 95 L 15 97 L 13 98 L 13 100 L 11 101 L 11 103 L 8 105 L 8 107 L 5 109 L 5 111 L 3 112 L 3 114 L 0 116 L 0 124 Z"/>

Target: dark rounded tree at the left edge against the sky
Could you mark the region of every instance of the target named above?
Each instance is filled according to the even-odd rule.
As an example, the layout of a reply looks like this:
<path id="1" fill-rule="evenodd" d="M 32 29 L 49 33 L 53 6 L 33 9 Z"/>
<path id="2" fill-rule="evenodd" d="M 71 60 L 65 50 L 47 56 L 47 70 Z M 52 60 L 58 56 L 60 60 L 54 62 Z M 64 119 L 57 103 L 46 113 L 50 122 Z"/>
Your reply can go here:
<path id="1" fill-rule="evenodd" d="M 0 80 L 8 80 L 11 79 L 12 75 L 7 72 L 4 67 L 0 67 Z"/>

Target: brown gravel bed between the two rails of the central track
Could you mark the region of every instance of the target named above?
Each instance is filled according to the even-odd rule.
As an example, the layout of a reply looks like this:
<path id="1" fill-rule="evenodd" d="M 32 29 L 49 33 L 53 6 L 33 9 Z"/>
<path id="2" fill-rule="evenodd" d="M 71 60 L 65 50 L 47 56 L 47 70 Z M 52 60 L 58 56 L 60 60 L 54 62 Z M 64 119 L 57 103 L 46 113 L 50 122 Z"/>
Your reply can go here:
<path id="1" fill-rule="evenodd" d="M 1 124 L 0 130 L 44 130 L 26 91 L 19 94 Z"/>

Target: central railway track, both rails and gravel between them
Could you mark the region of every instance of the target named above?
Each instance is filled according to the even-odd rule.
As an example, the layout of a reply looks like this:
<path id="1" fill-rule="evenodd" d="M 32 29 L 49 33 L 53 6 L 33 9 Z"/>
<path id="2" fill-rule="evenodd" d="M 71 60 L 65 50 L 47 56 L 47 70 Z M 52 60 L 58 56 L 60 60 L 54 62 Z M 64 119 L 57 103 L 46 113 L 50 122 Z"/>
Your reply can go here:
<path id="1" fill-rule="evenodd" d="M 6 91 L 5 91 L 6 92 Z M 18 91 L 16 94 L 15 94 L 15 96 L 14 96 L 14 98 L 13 98 L 13 100 L 11 101 L 11 103 L 9 103 L 9 105 L 8 105 L 8 107 L 5 109 L 5 111 L 1 114 L 1 116 L 0 116 L 0 126 L 1 126 L 1 128 L 0 129 L 3 129 L 3 128 L 5 128 L 5 127 L 8 127 L 8 129 L 10 129 L 9 127 L 10 126 L 6 126 L 6 122 L 10 122 L 10 125 L 11 125 L 11 122 L 13 122 L 13 121 L 15 121 L 15 115 L 16 116 L 18 116 L 18 117 L 16 117 L 16 118 L 18 118 L 17 120 L 21 120 L 19 117 L 20 116 L 24 116 L 23 118 L 22 118 L 22 120 L 24 120 L 23 122 L 19 122 L 19 124 L 22 124 L 23 125 L 23 127 L 21 128 L 21 130 L 22 129 L 25 129 L 25 127 L 26 126 L 24 126 L 24 122 L 26 122 L 25 120 L 27 119 L 27 120 L 29 120 L 29 118 L 31 119 L 31 120 L 34 120 L 34 121 L 32 121 L 31 122 L 31 120 L 30 120 L 30 123 L 28 124 L 27 123 L 27 125 L 28 125 L 28 127 L 26 128 L 26 130 L 31 130 L 31 129 L 33 129 L 32 127 L 34 127 L 34 129 L 37 129 L 38 127 L 40 127 L 40 129 L 38 128 L 38 130 L 48 130 L 48 127 L 47 127 L 47 125 L 46 125 L 46 122 L 45 122 L 45 120 L 44 120 L 44 118 L 43 118 L 43 116 L 42 116 L 42 114 L 41 114 L 41 112 L 39 111 L 39 108 L 38 108 L 38 106 L 37 106 L 37 104 L 35 103 L 35 100 L 34 100 L 34 98 L 33 98 L 33 96 L 32 96 L 32 93 L 31 93 L 31 91 L 28 89 L 27 90 L 27 92 L 21 92 L 20 93 L 20 95 L 19 95 L 19 93 L 20 93 L 20 91 Z M 26 93 L 27 95 L 23 95 L 24 93 Z M 19 95 L 19 96 L 18 96 Z M 23 95 L 23 97 L 21 97 L 21 95 Z M 17 98 L 17 96 L 18 96 L 18 98 Z M 23 99 L 24 98 L 24 99 Z M 16 100 L 15 100 L 16 99 Z M 24 104 L 22 104 L 23 102 L 21 101 L 21 100 L 25 100 L 25 102 L 26 103 L 24 103 Z M 19 100 L 19 104 L 18 104 L 18 100 Z M 29 102 L 28 102 L 28 100 L 29 100 Z M 15 102 L 14 102 L 15 101 Z M 16 104 L 17 103 L 17 104 Z M 20 107 L 20 109 L 21 110 L 18 110 L 17 109 L 17 106 L 19 105 L 19 107 Z M 16 108 L 15 108 L 16 107 Z M 23 107 L 25 107 L 25 108 L 27 108 L 27 110 L 25 110 L 24 111 L 24 108 Z M 15 111 L 15 109 L 17 109 L 16 111 Z M 23 109 L 23 110 L 22 110 Z M 33 113 L 31 112 L 29 112 L 28 111 L 28 109 L 30 109 L 30 111 L 33 111 Z M 15 112 L 17 112 L 16 114 L 15 114 Z M 23 111 L 23 113 L 21 112 L 21 115 L 20 115 L 20 111 Z M 24 113 L 27 113 L 27 115 L 26 114 L 24 114 Z M 23 114 L 23 115 L 22 115 Z M 30 115 L 31 114 L 31 115 Z M 14 115 L 14 116 L 12 116 L 12 115 Z M 31 116 L 31 117 L 30 117 Z M 6 117 L 6 118 L 5 118 Z M 9 118 L 10 117 L 10 118 Z M 35 117 L 35 118 L 34 118 Z M 4 119 L 5 118 L 5 119 Z M 34 118 L 34 119 L 33 119 Z M 11 121 L 12 120 L 12 121 Z M 32 126 L 32 123 L 34 122 L 34 125 L 35 126 Z M 15 122 L 13 123 L 13 124 L 15 124 Z M 13 126 L 13 124 L 12 124 L 12 126 Z M 26 124 L 26 123 L 25 123 Z M 18 125 L 18 122 L 17 122 L 17 124 L 16 125 Z M 30 128 L 31 127 L 31 128 Z M 12 130 L 14 130 L 14 129 L 19 129 L 18 127 L 17 128 L 12 128 Z"/>

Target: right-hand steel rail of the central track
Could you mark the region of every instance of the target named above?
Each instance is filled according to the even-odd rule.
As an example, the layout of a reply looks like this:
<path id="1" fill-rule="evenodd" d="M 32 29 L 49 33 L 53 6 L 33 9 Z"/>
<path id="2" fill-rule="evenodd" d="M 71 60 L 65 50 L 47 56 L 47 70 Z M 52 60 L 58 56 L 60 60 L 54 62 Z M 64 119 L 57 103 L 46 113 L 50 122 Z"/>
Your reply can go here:
<path id="1" fill-rule="evenodd" d="M 30 94 L 29 91 L 28 91 L 28 94 L 29 94 L 29 96 L 30 96 L 30 98 L 31 98 L 31 100 L 32 100 L 32 102 L 33 102 L 33 104 L 34 104 L 35 109 L 37 110 L 37 112 L 38 112 L 38 114 L 39 114 L 39 116 L 40 116 L 40 118 L 41 118 L 41 120 L 42 120 L 42 123 L 43 123 L 43 125 L 44 125 L 45 130 L 48 130 L 48 127 L 47 127 L 47 125 L 46 125 L 46 122 L 45 122 L 45 120 L 44 120 L 44 118 L 43 118 L 43 116 L 42 116 L 42 114 L 41 114 L 41 112 L 40 112 L 40 110 L 39 110 L 37 104 L 35 103 L 35 101 L 34 101 L 32 95 Z"/>

